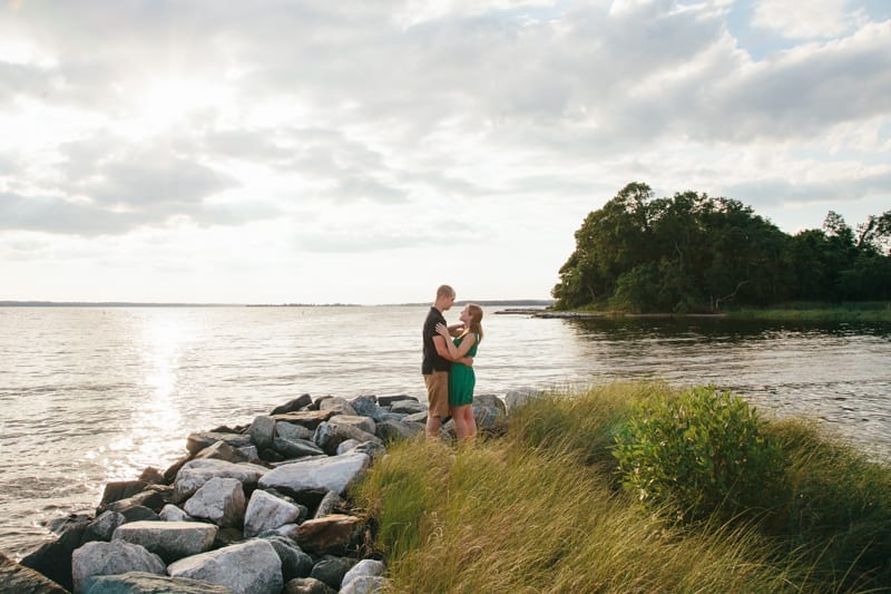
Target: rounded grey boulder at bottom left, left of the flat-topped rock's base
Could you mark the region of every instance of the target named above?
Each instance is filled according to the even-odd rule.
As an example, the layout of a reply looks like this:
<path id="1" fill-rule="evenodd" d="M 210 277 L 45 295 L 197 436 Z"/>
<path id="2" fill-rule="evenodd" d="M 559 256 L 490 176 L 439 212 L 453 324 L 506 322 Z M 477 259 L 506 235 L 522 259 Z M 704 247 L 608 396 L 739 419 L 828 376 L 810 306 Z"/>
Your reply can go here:
<path id="1" fill-rule="evenodd" d="M 94 575 L 146 572 L 164 575 L 164 562 L 145 547 L 126 541 L 87 543 L 71 555 L 71 578 L 75 592 L 84 590 Z"/>

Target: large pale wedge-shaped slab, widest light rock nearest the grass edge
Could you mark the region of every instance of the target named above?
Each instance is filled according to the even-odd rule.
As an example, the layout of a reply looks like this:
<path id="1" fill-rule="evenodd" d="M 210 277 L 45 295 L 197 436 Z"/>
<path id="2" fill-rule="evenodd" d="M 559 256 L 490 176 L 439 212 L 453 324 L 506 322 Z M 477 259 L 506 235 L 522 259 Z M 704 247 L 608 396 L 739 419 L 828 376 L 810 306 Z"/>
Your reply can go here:
<path id="1" fill-rule="evenodd" d="M 370 461 L 368 455 L 358 452 L 296 461 L 270 470 L 260 478 L 258 486 L 291 491 L 326 489 L 343 495 L 346 486 L 364 473 Z"/>

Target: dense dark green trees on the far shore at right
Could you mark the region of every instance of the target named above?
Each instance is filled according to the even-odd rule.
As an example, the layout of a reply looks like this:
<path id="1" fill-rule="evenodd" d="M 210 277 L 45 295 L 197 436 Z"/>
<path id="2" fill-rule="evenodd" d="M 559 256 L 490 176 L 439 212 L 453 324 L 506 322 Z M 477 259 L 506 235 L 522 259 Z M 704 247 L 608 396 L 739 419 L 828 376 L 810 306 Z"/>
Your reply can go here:
<path id="1" fill-rule="evenodd" d="M 834 212 L 823 228 L 789 235 L 728 198 L 696 192 L 654 198 L 625 186 L 576 232 L 560 267 L 556 309 L 718 312 L 792 301 L 891 299 L 891 211 L 851 228 Z"/>

